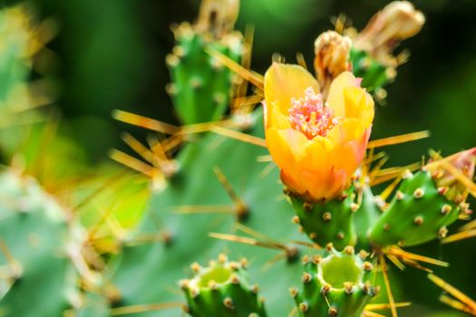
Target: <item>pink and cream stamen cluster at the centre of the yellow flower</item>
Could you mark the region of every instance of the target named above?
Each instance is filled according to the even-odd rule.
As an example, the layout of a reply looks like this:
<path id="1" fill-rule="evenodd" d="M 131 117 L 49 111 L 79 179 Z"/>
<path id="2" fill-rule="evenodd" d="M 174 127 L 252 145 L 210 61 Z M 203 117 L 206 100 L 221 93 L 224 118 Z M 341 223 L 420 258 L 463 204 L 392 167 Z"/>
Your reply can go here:
<path id="1" fill-rule="evenodd" d="M 316 94 L 312 87 L 306 89 L 304 98 L 291 99 L 287 119 L 291 127 L 302 132 L 307 139 L 325 137 L 342 120 L 335 117 L 334 110 L 324 104 L 322 94 Z"/>

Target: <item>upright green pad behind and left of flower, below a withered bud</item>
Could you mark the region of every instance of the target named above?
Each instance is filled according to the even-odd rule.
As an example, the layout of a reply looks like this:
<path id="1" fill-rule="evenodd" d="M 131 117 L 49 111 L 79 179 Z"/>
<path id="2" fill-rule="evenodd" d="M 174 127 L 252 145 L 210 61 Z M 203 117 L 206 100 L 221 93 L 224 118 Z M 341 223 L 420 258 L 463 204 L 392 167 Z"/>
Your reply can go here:
<path id="1" fill-rule="evenodd" d="M 171 84 L 168 91 L 175 110 L 184 124 L 220 120 L 227 110 L 233 73 L 207 51 L 223 53 L 239 62 L 242 53 L 240 34 L 228 34 L 213 40 L 197 34 L 189 24 L 175 32 L 177 46 L 167 57 Z"/>

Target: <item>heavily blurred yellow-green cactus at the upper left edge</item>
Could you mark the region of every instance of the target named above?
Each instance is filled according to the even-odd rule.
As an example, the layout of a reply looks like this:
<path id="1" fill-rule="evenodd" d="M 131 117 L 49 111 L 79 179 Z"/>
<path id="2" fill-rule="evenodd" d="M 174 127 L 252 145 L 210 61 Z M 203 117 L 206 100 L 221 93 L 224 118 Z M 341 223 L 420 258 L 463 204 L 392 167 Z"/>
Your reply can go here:
<path id="1" fill-rule="evenodd" d="M 48 40 L 47 28 L 34 24 L 30 7 L 15 5 L 0 10 L 0 157 L 11 158 L 24 135 L 23 126 L 44 120 L 38 106 L 49 98 L 37 98 L 29 76 L 34 54 Z M 19 128 L 20 127 L 20 128 Z"/>

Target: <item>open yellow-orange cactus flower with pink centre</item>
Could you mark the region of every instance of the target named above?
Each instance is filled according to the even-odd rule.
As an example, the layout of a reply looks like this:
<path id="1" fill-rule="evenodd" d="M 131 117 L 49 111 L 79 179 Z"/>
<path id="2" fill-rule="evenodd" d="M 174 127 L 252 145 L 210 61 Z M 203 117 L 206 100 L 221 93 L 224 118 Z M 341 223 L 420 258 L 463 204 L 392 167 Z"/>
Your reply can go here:
<path id="1" fill-rule="evenodd" d="M 364 159 L 374 101 L 359 86 L 342 72 L 323 101 L 301 66 L 275 62 L 265 74 L 267 149 L 283 183 L 306 201 L 341 195 Z"/>

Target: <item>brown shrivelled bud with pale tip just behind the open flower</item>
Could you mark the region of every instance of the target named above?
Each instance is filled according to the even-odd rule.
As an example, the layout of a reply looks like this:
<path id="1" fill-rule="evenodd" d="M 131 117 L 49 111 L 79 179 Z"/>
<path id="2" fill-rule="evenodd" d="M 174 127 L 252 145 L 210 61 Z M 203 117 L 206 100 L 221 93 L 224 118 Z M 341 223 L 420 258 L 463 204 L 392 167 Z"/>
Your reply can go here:
<path id="1" fill-rule="evenodd" d="M 314 68 L 324 98 L 335 77 L 350 69 L 351 48 L 352 40 L 335 31 L 327 31 L 316 38 Z"/>

